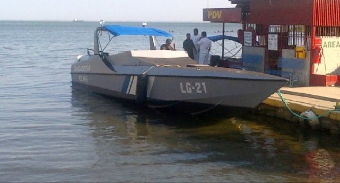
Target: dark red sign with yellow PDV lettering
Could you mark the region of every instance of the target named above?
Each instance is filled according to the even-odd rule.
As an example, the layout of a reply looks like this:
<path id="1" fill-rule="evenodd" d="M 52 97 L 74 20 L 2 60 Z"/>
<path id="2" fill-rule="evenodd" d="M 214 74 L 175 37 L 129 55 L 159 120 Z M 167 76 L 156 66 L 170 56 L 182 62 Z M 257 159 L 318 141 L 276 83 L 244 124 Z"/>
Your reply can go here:
<path id="1" fill-rule="evenodd" d="M 206 8 L 203 9 L 203 21 L 240 23 L 241 8 Z"/>

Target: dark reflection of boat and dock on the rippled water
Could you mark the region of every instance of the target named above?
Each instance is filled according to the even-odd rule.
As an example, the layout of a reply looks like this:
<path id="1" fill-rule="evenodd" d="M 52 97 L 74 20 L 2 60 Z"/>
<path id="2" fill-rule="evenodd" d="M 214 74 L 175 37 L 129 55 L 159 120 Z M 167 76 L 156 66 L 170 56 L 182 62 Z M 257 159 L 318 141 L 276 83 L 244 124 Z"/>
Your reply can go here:
<path id="1" fill-rule="evenodd" d="M 176 116 L 75 90 L 72 105 L 89 121 L 92 166 L 115 181 L 335 182 L 340 172 L 328 150 L 338 137 L 278 119 Z"/>

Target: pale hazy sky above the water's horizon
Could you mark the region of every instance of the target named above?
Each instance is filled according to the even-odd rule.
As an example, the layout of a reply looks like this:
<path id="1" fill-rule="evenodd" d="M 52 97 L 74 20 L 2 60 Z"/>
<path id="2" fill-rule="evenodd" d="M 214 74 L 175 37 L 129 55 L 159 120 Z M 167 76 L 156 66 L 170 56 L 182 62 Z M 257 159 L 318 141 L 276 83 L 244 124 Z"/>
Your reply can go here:
<path id="1" fill-rule="evenodd" d="M 202 22 L 203 8 L 229 0 L 1 0 L 0 20 Z"/>

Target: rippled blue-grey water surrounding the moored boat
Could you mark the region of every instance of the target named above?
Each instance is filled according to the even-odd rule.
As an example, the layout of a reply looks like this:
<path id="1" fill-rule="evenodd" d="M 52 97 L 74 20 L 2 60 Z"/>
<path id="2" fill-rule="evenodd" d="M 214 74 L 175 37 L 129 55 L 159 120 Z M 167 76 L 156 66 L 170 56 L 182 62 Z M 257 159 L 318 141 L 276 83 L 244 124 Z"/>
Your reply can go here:
<path id="1" fill-rule="evenodd" d="M 148 26 L 174 30 L 177 46 L 193 28 L 221 30 Z M 72 90 L 70 66 L 92 48 L 95 27 L 0 22 L 1 182 L 339 182 L 338 135 L 252 114 L 165 114 Z"/>

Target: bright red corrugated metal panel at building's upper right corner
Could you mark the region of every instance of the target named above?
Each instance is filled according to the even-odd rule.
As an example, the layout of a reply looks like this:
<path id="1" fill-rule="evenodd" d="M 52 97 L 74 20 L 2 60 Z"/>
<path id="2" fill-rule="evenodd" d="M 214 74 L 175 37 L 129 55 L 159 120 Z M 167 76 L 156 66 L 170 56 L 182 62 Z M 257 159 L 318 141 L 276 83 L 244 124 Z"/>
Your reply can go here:
<path id="1" fill-rule="evenodd" d="M 340 0 L 314 0 L 315 26 L 340 26 Z"/>

